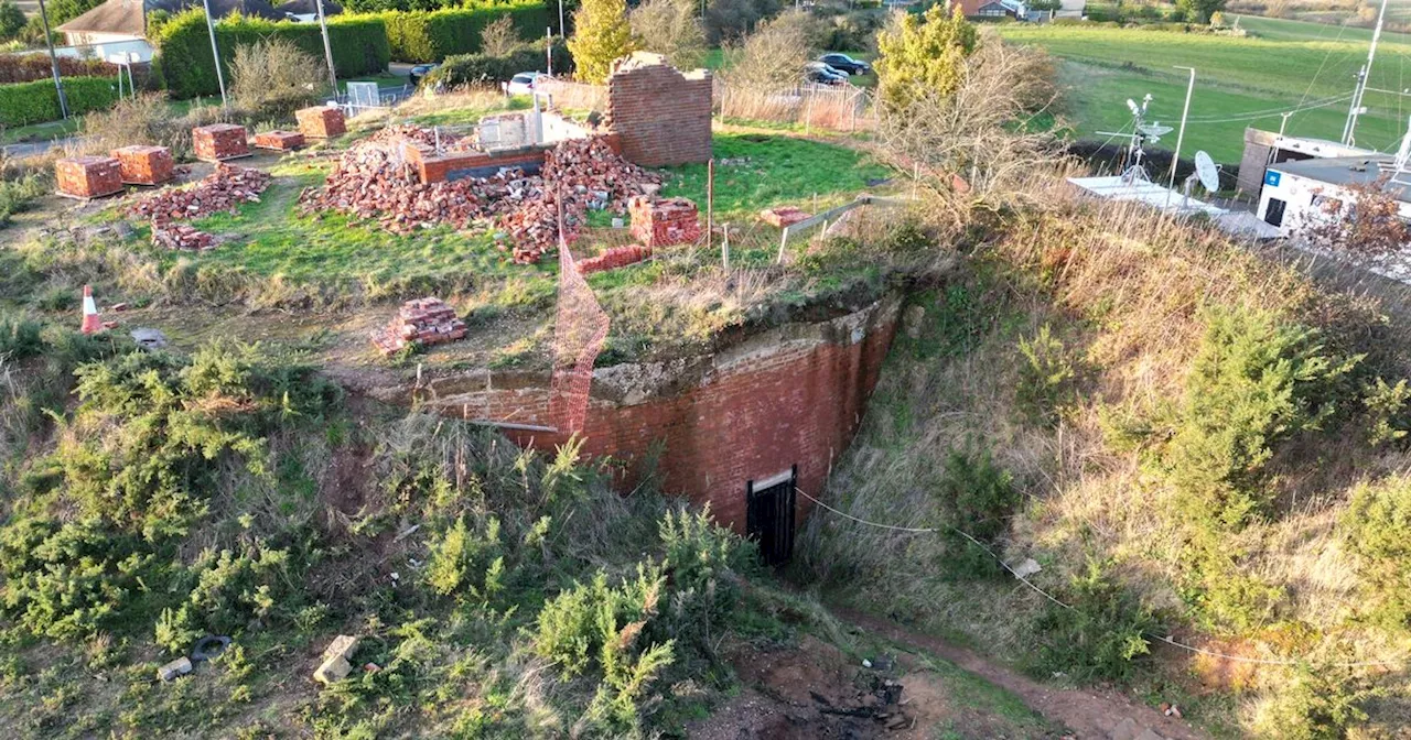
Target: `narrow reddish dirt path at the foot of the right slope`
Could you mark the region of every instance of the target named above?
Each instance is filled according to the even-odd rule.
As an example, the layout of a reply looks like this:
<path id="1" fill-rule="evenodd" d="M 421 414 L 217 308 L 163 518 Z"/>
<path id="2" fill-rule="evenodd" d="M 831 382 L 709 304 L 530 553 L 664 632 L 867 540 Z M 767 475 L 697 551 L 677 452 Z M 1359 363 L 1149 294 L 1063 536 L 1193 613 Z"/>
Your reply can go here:
<path id="1" fill-rule="evenodd" d="M 1133 702 L 1112 691 L 1061 689 L 1046 686 L 1023 674 L 996 665 L 989 660 L 937 637 L 923 634 L 895 622 L 832 608 L 845 623 L 856 624 L 876 637 L 885 637 L 899 647 L 910 647 L 945 658 L 961 668 L 985 678 L 996 686 L 1017 695 L 1030 709 L 1044 717 L 1065 724 L 1081 740 L 1205 740 L 1209 736 L 1182 720 Z"/>

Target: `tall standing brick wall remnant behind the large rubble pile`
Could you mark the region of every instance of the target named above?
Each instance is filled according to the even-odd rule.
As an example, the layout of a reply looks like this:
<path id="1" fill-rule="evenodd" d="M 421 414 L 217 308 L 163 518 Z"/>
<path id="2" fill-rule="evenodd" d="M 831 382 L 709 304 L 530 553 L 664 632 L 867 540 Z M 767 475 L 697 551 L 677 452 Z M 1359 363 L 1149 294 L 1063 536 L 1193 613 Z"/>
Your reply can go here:
<path id="1" fill-rule="evenodd" d="M 659 54 L 635 52 L 612 63 L 608 125 L 622 155 L 642 166 L 710 159 L 710 70 L 682 73 Z"/>

